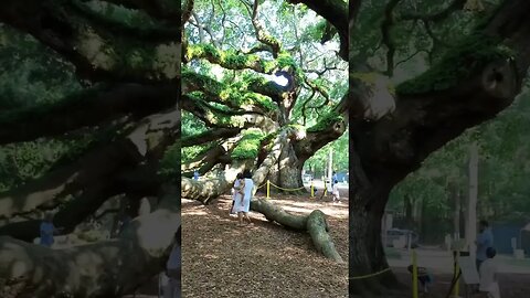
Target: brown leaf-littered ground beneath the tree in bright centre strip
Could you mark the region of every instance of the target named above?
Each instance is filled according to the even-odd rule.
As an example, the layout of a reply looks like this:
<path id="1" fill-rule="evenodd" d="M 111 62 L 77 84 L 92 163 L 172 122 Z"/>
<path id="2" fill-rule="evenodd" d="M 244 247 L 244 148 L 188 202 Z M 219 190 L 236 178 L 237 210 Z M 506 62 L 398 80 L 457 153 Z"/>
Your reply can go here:
<path id="1" fill-rule="evenodd" d="M 274 194 L 272 200 L 293 213 L 325 212 L 347 260 L 347 201 L 332 204 L 307 196 Z M 318 254 L 309 234 L 287 231 L 252 212 L 254 225 L 237 227 L 227 214 L 230 204 L 227 195 L 208 206 L 182 200 L 183 297 L 348 297 L 348 265 Z"/>

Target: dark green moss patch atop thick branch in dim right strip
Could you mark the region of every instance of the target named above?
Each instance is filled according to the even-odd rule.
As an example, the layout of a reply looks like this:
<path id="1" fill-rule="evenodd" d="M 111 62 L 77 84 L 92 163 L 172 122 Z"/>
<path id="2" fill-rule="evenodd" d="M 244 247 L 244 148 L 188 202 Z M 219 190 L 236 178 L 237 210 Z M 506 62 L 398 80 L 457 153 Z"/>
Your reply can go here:
<path id="1" fill-rule="evenodd" d="M 428 71 L 403 82 L 396 86 L 395 91 L 399 95 L 445 91 L 480 72 L 487 64 L 512 56 L 513 52 L 502 45 L 500 39 L 475 33 L 447 51 Z"/>

